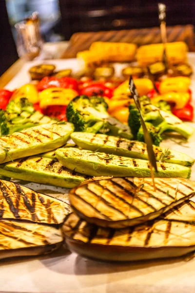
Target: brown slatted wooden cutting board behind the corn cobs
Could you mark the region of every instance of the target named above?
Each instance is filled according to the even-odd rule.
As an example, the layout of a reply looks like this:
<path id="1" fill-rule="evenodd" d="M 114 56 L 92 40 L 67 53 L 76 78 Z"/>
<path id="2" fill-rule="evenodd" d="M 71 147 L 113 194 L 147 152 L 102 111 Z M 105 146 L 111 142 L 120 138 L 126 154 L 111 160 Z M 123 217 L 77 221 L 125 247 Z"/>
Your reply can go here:
<path id="1" fill-rule="evenodd" d="M 186 42 L 190 51 L 195 51 L 194 26 L 176 25 L 167 27 L 168 42 Z M 132 42 L 138 46 L 161 42 L 160 28 L 143 28 L 107 32 L 75 33 L 70 39 L 70 44 L 61 58 L 75 58 L 79 51 L 88 50 L 92 42 Z"/>

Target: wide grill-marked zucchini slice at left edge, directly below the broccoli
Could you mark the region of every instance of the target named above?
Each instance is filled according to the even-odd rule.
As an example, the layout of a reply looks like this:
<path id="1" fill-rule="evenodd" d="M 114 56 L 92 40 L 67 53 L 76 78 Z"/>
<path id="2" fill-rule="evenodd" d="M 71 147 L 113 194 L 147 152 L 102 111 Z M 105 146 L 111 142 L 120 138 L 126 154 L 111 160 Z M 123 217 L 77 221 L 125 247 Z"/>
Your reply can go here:
<path id="1" fill-rule="evenodd" d="M 0 137 L 0 163 L 63 146 L 74 131 L 71 123 L 44 124 Z"/>

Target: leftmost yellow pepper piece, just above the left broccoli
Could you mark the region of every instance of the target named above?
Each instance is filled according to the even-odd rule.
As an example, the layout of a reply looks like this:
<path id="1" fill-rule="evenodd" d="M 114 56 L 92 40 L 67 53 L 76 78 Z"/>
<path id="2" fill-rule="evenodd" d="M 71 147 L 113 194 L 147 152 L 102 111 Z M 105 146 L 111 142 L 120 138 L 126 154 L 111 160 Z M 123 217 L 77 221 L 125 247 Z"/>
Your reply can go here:
<path id="1" fill-rule="evenodd" d="M 12 100 L 19 102 L 21 98 L 27 98 L 29 102 L 36 104 L 39 102 L 39 93 L 34 84 L 24 84 L 12 95 Z"/>

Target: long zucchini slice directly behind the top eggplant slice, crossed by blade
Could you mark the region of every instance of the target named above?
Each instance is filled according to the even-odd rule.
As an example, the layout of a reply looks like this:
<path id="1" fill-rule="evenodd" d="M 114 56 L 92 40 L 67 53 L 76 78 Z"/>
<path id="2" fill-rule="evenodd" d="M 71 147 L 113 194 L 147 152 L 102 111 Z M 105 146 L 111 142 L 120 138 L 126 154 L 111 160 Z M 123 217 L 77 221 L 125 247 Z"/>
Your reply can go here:
<path id="1" fill-rule="evenodd" d="M 57 149 L 56 157 L 64 167 L 89 176 L 151 177 L 150 163 L 146 160 L 73 147 Z M 157 168 L 156 177 L 190 178 L 191 174 L 190 168 L 176 164 L 157 163 Z"/>

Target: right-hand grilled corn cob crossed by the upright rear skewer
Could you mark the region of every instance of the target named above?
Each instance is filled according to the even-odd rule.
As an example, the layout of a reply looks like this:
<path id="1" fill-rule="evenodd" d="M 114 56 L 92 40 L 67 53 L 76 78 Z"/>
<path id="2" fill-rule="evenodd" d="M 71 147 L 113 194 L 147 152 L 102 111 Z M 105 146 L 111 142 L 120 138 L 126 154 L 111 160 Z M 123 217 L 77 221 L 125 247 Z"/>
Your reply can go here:
<path id="1" fill-rule="evenodd" d="M 140 46 L 137 49 L 137 62 L 139 66 L 146 67 L 152 63 L 162 61 L 163 44 Z M 166 55 L 170 64 L 186 63 L 188 47 L 185 42 L 172 42 L 166 44 Z"/>

